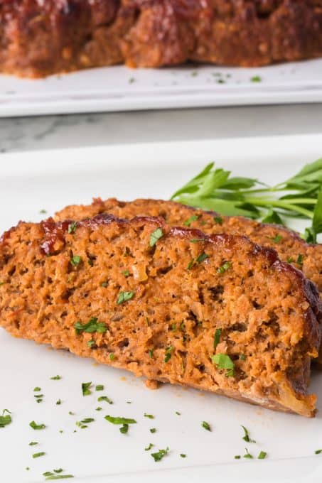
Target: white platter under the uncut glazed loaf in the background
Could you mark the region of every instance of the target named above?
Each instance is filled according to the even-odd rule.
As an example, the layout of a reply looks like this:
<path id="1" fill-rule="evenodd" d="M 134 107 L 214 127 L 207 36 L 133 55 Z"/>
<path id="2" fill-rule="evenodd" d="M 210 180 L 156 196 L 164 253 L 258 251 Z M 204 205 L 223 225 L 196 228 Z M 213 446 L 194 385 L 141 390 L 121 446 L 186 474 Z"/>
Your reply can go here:
<path id="1" fill-rule="evenodd" d="M 322 59 L 252 69 L 117 66 L 45 80 L 0 75 L 0 116 L 321 101 Z"/>

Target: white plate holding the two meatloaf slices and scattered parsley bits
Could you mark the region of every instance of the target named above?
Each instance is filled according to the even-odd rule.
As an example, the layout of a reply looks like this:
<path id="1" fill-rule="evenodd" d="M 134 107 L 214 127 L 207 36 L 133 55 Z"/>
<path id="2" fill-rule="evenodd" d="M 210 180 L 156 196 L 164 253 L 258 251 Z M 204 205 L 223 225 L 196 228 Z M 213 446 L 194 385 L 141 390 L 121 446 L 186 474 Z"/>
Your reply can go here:
<path id="1" fill-rule="evenodd" d="M 321 156 L 321 146 L 322 136 L 296 136 L 4 154 L 0 229 L 18 219 L 41 219 L 39 210 L 44 208 L 53 213 L 71 202 L 90 202 L 92 195 L 167 198 L 210 160 L 236 174 L 274 182 Z M 124 371 L 15 340 L 4 330 L 0 347 L 0 409 L 9 408 L 13 416 L 13 423 L 0 430 L 1 482 L 41 482 L 43 472 L 63 467 L 86 483 L 163 483 L 175 478 L 179 483 L 321 483 L 322 455 L 314 455 L 322 447 L 321 374 L 313 374 L 311 387 L 318 394 L 319 413 L 306 419 L 177 386 L 149 391 L 141 379 Z M 50 380 L 56 374 L 63 379 Z M 105 389 L 83 397 L 85 381 L 104 384 Z M 41 404 L 34 400 L 35 386 L 45 395 Z M 101 394 L 114 404 L 102 402 L 103 411 L 97 412 Z M 59 406 L 58 398 L 63 401 Z M 155 419 L 144 418 L 144 412 Z M 138 423 L 122 435 L 104 420 L 107 414 L 133 417 Z M 80 430 L 75 421 L 85 417 L 95 422 Z M 31 420 L 47 428 L 32 430 Z M 201 427 L 203 420 L 212 426 L 211 433 Z M 242 440 L 241 424 L 257 444 Z M 157 428 L 154 434 L 149 432 L 152 427 Z M 41 444 L 28 446 L 31 440 Z M 149 443 L 156 449 L 170 447 L 168 456 L 154 462 L 144 451 Z M 235 455 L 245 454 L 245 447 L 254 456 L 264 450 L 269 457 L 235 460 Z M 31 457 L 40 451 L 46 455 Z"/>

